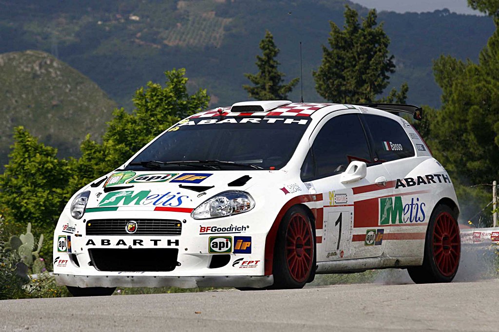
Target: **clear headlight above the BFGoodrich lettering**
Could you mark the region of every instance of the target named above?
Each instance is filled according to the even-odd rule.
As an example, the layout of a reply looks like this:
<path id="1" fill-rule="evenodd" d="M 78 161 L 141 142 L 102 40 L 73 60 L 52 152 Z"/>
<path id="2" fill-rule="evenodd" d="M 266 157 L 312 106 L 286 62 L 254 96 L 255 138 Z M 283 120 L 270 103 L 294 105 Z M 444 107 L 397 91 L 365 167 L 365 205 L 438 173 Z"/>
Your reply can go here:
<path id="1" fill-rule="evenodd" d="M 244 191 L 226 191 L 206 200 L 192 211 L 194 219 L 226 217 L 248 212 L 254 207 L 254 199 Z"/>

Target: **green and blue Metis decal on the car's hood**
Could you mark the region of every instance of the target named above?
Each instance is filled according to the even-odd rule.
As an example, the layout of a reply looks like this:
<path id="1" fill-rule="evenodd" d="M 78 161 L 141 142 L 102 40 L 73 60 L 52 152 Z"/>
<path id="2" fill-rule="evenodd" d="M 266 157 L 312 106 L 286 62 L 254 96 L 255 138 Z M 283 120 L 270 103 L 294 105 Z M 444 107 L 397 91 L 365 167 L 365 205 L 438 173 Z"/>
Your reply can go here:
<path id="1" fill-rule="evenodd" d="M 109 192 L 102 198 L 99 207 L 116 206 L 116 205 L 162 205 L 162 206 L 180 206 L 183 199 L 188 199 L 189 196 L 176 194 L 168 191 L 167 193 L 151 194 L 149 190 L 142 191 L 114 191 Z"/>

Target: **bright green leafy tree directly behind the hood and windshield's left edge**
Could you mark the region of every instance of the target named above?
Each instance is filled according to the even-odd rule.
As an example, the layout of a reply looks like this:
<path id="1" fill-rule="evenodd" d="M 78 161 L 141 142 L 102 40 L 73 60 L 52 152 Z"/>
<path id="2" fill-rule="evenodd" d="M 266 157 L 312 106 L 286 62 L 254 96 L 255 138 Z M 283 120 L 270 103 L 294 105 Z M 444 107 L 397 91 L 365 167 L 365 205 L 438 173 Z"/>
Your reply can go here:
<path id="1" fill-rule="evenodd" d="M 73 189 L 119 167 L 153 138 L 180 119 L 208 107 L 206 90 L 187 93 L 186 70 L 166 71 L 166 84 L 148 82 L 135 92 L 135 110 L 130 114 L 116 109 L 102 144 L 87 137 L 81 145 L 82 156 L 71 179 Z"/>

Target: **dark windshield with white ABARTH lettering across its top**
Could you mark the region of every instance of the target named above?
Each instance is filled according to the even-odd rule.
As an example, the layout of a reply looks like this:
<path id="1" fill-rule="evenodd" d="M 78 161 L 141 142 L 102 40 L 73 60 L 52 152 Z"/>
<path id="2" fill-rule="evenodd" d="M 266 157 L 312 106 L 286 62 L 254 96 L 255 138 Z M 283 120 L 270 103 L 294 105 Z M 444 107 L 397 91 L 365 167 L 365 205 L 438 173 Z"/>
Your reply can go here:
<path id="1" fill-rule="evenodd" d="M 183 120 L 142 151 L 126 169 L 279 169 L 291 158 L 310 122 L 308 117 Z"/>

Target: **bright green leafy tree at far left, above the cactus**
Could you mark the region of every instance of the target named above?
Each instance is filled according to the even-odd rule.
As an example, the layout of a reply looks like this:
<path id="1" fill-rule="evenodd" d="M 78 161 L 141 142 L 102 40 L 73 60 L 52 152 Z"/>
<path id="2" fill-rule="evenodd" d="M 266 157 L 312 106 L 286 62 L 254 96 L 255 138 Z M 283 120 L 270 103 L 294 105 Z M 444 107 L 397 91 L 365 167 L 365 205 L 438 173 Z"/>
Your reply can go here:
<path id="1" fill-rule="evenodd" d="M 57 149 L 38 143 L 23 127 L 15 128 L 14 140 L 9 163 L 0 175 L 0 211 L 11 232 L 19 232 L 31 222 L 36 237 L 44 234 L 40 256 L 50 258 L 53 227 L 69 198 L 69 163 L 56 157 Z"/>

